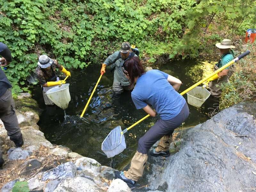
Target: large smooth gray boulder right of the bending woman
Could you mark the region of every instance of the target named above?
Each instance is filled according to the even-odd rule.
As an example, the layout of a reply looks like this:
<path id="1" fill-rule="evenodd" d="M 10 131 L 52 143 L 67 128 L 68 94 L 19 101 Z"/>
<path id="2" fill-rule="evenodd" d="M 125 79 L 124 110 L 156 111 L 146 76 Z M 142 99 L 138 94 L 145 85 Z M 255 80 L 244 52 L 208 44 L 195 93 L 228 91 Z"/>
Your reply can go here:
<path id="1" fill-rule="evenodd" d="M 148 189 L 252 192 L 256 188 L 255 103 L 224 109 L 182 133 L 180 150 L 149 157 Z M 135 190 L 136 191 L 136 190 Z"/>

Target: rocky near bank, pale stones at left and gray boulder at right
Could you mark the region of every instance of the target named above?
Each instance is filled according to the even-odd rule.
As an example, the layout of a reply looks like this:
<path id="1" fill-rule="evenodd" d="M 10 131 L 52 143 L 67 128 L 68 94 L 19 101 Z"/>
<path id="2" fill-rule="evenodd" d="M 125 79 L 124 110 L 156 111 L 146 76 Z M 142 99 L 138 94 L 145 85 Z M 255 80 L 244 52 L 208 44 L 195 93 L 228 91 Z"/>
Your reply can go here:
<path id="1" fill-rule="evenodd" d="M 122 180 L 113 180 L 111 167 L 47 141 L 36 124 L 40 109 L 29 97 L 16 100 L 23 147 L 14 147 L 0 123 L 3 192 L 12 191 L 17 181 L 26 181 L 27 191 L 131 191 Z M 177 130 L 172 155 L 149 157 L 133 191 L 256 191 L 255 111 L 255 103 L 242 103 L 203 124 Z"/>

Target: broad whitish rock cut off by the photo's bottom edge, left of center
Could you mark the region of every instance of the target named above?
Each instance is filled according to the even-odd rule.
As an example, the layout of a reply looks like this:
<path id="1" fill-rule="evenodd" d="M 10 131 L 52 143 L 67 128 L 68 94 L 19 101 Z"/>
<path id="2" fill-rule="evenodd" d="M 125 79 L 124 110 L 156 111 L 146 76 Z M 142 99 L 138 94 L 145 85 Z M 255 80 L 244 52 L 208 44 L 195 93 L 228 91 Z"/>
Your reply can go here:
<path id="1" fill-rule="evenodd" d="M 62 181 L 53 192 L 101 192 L 102 190 L 91 180 L 75 177 Z"/>

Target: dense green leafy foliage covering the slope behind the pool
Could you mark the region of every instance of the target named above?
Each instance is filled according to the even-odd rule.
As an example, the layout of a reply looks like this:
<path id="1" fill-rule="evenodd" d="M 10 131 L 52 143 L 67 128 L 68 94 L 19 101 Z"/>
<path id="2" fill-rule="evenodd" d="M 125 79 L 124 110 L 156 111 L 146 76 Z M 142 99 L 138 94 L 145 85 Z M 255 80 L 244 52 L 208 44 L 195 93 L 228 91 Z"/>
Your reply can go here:
<path id="1" fill-rule="evenodd" d="M 14 58 L 6 74 L 24 85 L 40 54 L 84 68 L 123 41 L 136 44 L 149 62 L 163 54 L 196 57 L 207 39 L 220 39 L 214 31 L 205 36 L 214 21 L 243 34 L 255 22 L 255 6 L 249 0 L 0 0 L 0 42 Z"/>

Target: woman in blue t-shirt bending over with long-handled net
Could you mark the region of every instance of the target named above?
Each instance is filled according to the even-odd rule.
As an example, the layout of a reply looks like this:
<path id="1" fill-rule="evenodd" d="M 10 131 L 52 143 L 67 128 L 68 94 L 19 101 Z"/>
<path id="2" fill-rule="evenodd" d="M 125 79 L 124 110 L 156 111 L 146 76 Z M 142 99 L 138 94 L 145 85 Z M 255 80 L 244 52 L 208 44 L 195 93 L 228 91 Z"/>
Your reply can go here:
<path id="1" fill-rule="evenodd" d="M 149 149 L 160 139 L 151 156 L 168 157 L 172 133 L 188 117 L 186 100 L 177 91 L 181 81 L 162 71 L 153 69 L 145 73 L 138 57 L 127 60 L 123 72 L 130 83 L 136 83 L 132 91 L 132 101 L 137 109 L 143 109 L 150 116 L 159 114 L 160 119 L 138 142 L 138 148 L 132 158 L 128 171 L 115 172 L 116 178 L 133 187 L 140 179 L 148 159 Z M 155 109 L 153 110 L 151 106 Z"/>

